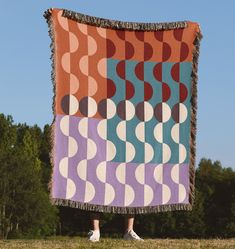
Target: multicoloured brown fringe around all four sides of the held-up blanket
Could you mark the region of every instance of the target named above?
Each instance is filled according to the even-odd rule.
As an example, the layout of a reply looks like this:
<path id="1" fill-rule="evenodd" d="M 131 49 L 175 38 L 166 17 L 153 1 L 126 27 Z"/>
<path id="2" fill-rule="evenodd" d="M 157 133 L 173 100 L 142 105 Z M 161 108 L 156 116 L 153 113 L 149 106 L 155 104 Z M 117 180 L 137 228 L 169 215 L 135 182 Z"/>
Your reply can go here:
<path id="1" fill-rule="evenodd" d="M 168 205 L 158 205 L 158 206 L 146 206 L 146 207 L 117 207 L 117 206 L 103 206 L 95 205 L 89 203 L 81 203 L 72 200 L 58 199 L 52 197 L 52 185 L 53 185 L 53 173 L 54 173 L 54 155 L 55 155 L 55 95 L 56 95 L 56 74 L 55 74 L 55 33 L 54 24 L 52 20 L 52 9 L 48 9 L 44 12 L 44 17 L 47 21 L 49 27 L 49 36 L 51 38 L 51 80 L 53 84 L 53 121 L 51 123 L 51 153 L 50 162 L 52 165 L 52 174 L 50 182 L 48 183 L 48 189 L 50 191 L 50 201 L 52 205 L 58 206 L 68 206 L 72 208 L 79 208 L 87 211 L 95 212 L 105 212 L 105 213 L 119 213 L 119 214 L 146 214 L 146 213 L 158 213 L 176 210 L 192 210 L 192 206 L 195 200 L 195 159 L 196 159 L 196 115 L 197 115 L 197 81 L 198 81 L 198 57 L 200 40 L 202 39 L 201 31 L 197 32 L 196 38 L 194 40 L 194 51 L 193 51 L 193 67 L 191 74 L 191 136 L 190 136 L 190 163 L 189 163 L 189 178 L 190 178 L 190 192 L 189 192 L 189 204 L 168 204 Z M 113 29 L 125 29 L 125 30 L 143 30 L 143 31 L 153 31 L 153 30 L 169 30 L 177 28 L 186 28 L 187 22 L 170 22 L 170 23 L 136 23 L 136 22 L 121 22 L 115 20 L 108 20 L 98 17 L 92 17 L 88 15 L 83 15 L 69 10 L 63 10 L 63 16 L 70 18 L 81 23 L 95 25 L 103 28 L 113 28 Z"/>

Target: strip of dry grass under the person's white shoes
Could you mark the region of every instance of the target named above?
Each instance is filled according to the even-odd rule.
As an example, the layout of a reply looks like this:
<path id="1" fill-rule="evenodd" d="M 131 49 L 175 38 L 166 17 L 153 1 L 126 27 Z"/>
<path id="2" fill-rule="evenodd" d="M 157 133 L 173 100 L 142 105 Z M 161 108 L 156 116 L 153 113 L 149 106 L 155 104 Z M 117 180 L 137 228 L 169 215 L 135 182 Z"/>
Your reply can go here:
<path id="1" fill-rule="evenodd" d="M 51 237 L 44 240 L 1 240 L 0 249 L 75 249 L 75 248 L 143 248 L 143 249 L 235 249 L 234 239 L 146 239 L 143 242 L 124 241 L 123 239 L 102 238 L 100 242 L 89 242 L 81 237 Z"/>

